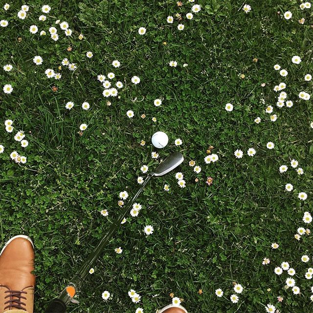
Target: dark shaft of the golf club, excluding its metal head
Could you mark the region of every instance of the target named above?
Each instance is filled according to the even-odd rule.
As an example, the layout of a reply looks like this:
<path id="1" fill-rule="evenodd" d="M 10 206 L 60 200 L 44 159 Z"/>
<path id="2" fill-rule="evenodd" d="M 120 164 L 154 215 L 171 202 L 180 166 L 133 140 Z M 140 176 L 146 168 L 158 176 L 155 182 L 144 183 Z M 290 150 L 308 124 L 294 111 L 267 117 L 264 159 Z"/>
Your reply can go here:
<path id="1" fill-rule="evenodd" d="M 128 204 L 125 206 L 123 212 L 115 219 L 115 221 L 110 226 L 107 234 L 101 239 L 99 244 L 93 249 L 93 251 L 89 254 L 86 261 L 81 265 L 81 267 L 77 270 L 77 272 L 74 274 L 72 280 L 70 283 L 68 283 L 67 288 L 65 288 L 59 295 L 58 298 L 55 298 L 52 303 L 50 304 L 49 308 L 53 307 L 53 303 L 56 305 L 60 305 L 60 303 L 63 303 L 64 307 L 66 308 L 67 304 L 71 301 L 74 294 L 77 292 L 77 290 L 80 288 L 82 281 L 86 278 L 86 276 L 89 273 L 89 269 L 92 267 L 92 265 L 95 263 L 97 258 L 101 255 L 103 248 L 108 244 L 108 242 L 111 240 L 113 234 L 117 231 L 117 228 L 123 221 L 124 217 L 127 215 L 129 210 L 134 204 L 134 201 L 138 198 L 139 194 L 142 192 L 144 187 L 147 185 L 149 180 L 153 174 L 149 174 L 147 178 L 144 180 L 141 188 L 137 191 L 137 193 L 134 195 L 131 201 L 128 202 Z M 68 287 L 72 288 L 72 294 L 71 292 L 68 292 Z M 52 309 L 49 309 L 47 313 L 51 312 L 65 312 L 65 311 L 52 311 Z M 64 309 L 63 309 L 64 310 Z"/>

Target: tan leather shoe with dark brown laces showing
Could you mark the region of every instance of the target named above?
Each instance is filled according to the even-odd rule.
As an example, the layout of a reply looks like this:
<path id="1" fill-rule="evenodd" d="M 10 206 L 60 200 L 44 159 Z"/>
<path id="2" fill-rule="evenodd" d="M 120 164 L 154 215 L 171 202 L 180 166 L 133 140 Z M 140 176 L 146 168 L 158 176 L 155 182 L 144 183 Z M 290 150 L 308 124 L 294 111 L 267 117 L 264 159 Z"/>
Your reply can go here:
<path id="1" fill-rule="evenodd" d="M 0 313 L 19 310 L 33 313 L 34 246 L 29 237 L 11 238 L 0 253 Z"/>

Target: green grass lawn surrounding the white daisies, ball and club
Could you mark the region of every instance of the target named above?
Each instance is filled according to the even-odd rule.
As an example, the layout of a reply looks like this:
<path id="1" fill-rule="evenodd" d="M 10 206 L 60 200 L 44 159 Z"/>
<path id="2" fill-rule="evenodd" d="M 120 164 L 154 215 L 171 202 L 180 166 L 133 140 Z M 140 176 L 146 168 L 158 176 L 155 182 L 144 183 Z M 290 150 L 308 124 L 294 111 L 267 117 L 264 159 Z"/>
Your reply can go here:
<path id="1" fill-rule="evenodd" d="M 190 313 L 258 313 L 268 304 L 279 312 L 313 312 L 313 282 L 304 276 L 313 268 L 312 234 L 294 238 L 298 227 L 310 228 L 302 218 L 313 211 L 313 105 L 298 97 L 300 91 L 312 96 L 312 81 L 304 79 L 313 75 L 312 9 L 300 9 L 296 0 L 183 0 L 181 6 L 174 0 L 8 0 L 7 11 L 1 3 L 0 19 L 9 24 L 0 29 L 0 243 L 20 233 L 33 239 L 35 312 L 44 312 L 104 236 L 121 211 L 119 193 L 126 190 L 131 197 L 137 191 L 137 177 L 146 176 L 140 167 L 153 170 L 173 151 L 185 158 L 177 170 L 185 188 L 179 187 L 176 172 L 151 180 L 137 201 L 139 216 L 128 215 L 79 292 L 79 305 L 70 305 L 68 312 L 135 313 L 141 307 L 155 313 L 171 303 L 170 293 L 182 298 Z M 17 16 L 22 4 L 29 5 L 24 20 Z M 44 4 L 51 11 L 43 22 L 38 18 Z M 194 4 L 201 4 L 201 11 L 188 20 Z M 244 12 L 244 4 L 251 12 Z M 286 11 L 292 12 L 290 20 Z M 168 16 L 174 17 L 172 24 Z M 71 36 L 57 20 L 68 22 Z M 181 31 L 179 23 L 185 26 Z M 31 25 L 38 26 L 36 34 L 30 33 Z M 50 38 L 51 26 L 58 41 Z M 147 29 L 145 35 L 138 34 L 139 27 Z M 291 62 L 294 55 L 300 64 Z M 43 64 L 35 65 L 34 56 Z M 61 66 L 64 58 L 77 68 Z M 113 60 L 120 67 L 114 68 Z M 11 71 L 2 69 L 6 64 Z M 288 75 L 282 77 L 275 64 Z M 62 78 L 47 78 L 47 68 Z M 124 85 L 118 97 L 102 95 L 97 75 L 109 72 L 115 74 L 112 85 Z M 134 75 L 140 78 L 137 85 L 131 82 Z M 273 89 L 282 82 L 291 108 L 286 102 L 276 106 L 279 92 Z M 12 93 L 2 91 L 5 84 L 12 85 Z M 74 103 L 71 110 L 65 108 L 68 101 Z M 87 111 L 81 107 L 85 101 Z M 226 103 L 234 110 L 227 112 Z M 275 122 L 265 112 L 268 105 L 277 114 Z M 126 115 L 129 110 L 133 118 Z M 5 131 L 7 119 L 14 121 L 12 133 Z M 80 133 L 82 123 L 88 128 Z M 14 140 L 18 131 L 29 142 L 26 148 Z M 169 136 L 164 149 L 151 144 L 157 131 Z M 182 145 L 174 144 L 177 138 Z M 274 149 L 267 149 L 268 141 Z M 205 164 L 211 145 L 219 160 Z M 247 156 L 249 148 L 255 156 Z M 234 156 L 237 149 L 242 158 Z M 13 151 L 27 162 L 15 163 Z M 153 151 L 159 158 L 151 157 Z M 303 175 L 291 167 L 291 159 Z M 190 160 L 201 166 L 199 174 Z M 288 171 L 280 173 L 281 165 Z M 207 177 L 213 178 L 210 186 Z M 306 201 L 298 199 L 300 192 L 307 193 Z M 108 217 L 100 214 L 104 209 Z M 146 236 L 148 224 L 154 233 Z M 279 248 L 272 249 L 272 243 Z M 115 253 L 116 247 L 123 252 Z M 307 264 L 302 255 L 310 257 Z M 264 266 L 266 257 L 270 264 Z M 296 271 L 300 294 L 285 288 L 287 271 L 274 273 L 284 261 Z M 244 290 L 233 304 L 236 282 Z M 215 294 L 219 288 L 223 297 Z M 132 302 L 130 289 L 141 295 L 140 303 Z M 103 291 L 111 293 L 108 301 Z"/>

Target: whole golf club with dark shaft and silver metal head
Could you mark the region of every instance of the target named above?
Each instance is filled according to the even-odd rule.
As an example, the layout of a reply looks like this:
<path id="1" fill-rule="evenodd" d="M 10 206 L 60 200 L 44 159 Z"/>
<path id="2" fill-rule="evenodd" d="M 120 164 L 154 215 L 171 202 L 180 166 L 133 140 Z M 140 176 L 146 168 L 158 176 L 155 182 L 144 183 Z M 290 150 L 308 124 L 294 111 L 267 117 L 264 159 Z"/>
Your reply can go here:
<path id="1" fill-rule="evenodd" d="M 73 278 L 67 284 L 66 288 L 60 293 L 60 295 L 53 299 L 49 304 L 46 313 L 64 313 L 67 309 L 67 304 L 71 302 L 74 295 L 77 293 L 77 290 L 80 288 L 82 281 L 86 278 L 89 273 L 89 269 L 95 263 L 97 258 L 101 255 L 103 248 L 108 244 L 109 240 L 112 238 L 113 234 L 116 232 L 117 228 L 123 221 L 124 217 L 127 215 L 131 209 L 134 201 L 137 199 L 141 191 L 147 185 L 149 180 L 152 177 L 160 177 L 168 172 L 174 170 L 179 164 L 184 160 L 183 156 L 179 152 L 174 152 L 170 154 L 163 162 L 159 164 L 156 170 L 150 173 L 147 178 L 144 180 L 141 188 L 137 191 L 131 201 L 125 206 L 125 209 L 118 216 L 115 221 L 110 226 L 107 234 L 101 239 L 98 246 L 95 246 L 93 251 L 89 254 L 86 261 L 81 265 L 81 267 L 76 271 Z"/>

